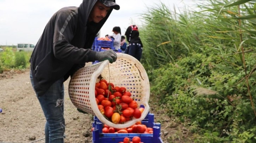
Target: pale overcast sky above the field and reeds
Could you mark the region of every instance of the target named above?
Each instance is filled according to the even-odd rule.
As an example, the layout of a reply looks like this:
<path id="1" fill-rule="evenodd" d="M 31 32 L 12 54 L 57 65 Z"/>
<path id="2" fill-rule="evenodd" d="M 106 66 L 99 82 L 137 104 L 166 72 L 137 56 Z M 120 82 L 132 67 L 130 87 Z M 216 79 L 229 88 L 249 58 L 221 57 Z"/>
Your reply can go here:
<path id="1" fill-rule="evenodd" d="M 0 45 L 18 42 L 36 44 L 51 16 L 62 7 L 79 6 L 82 0 L 0 0 Z M 120 10 L 113 10 L 101 29 L 101 36 L 112 34 L 119 26 L 122 35 L 131 24 L 141 25 L 140 14 L 163 2 L 173 9 L 191 7 L 192 0 L 116 0 Z"/>

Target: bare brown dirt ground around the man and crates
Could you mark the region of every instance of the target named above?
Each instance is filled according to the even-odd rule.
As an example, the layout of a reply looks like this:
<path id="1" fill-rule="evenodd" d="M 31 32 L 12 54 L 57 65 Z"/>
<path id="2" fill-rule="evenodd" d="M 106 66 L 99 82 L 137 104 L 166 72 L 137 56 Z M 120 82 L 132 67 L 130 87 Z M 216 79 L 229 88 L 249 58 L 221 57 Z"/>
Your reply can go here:
<path id="1" fill-rule="evenodd" d="M 93 116 L 77 111 L 68 96 L 68 83 L 64 83 L 65 143 L 91 143 Z M 0 143 L 44 143 L 45 118 L 30 83 L 29 69 L 0 74 L 0 91 Z M 188 130 L 164 115 L 155 102 L 151 101 L 150 112 L 155 114 L 155 122 L 161 123 L 161 139 L 164 143 L 185 143 Z"/>

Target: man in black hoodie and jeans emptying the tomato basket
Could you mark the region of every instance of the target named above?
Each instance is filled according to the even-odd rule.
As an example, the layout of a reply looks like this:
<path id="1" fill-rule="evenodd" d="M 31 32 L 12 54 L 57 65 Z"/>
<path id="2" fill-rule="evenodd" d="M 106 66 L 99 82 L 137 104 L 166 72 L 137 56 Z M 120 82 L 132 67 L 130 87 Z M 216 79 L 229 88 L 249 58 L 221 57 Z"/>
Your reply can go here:
<path id="1" fill-rule="evenodd" d="M 64 142 L 63 82 L 86 62 L 116 61 L 113 50 L 91 50 L 113 9 L 120 9 L 115 0 L 83 0 L 79 7 L 64 7 L 51 17 L 35 46 L 30 79 L 46 118 L 46 143 Z"/>

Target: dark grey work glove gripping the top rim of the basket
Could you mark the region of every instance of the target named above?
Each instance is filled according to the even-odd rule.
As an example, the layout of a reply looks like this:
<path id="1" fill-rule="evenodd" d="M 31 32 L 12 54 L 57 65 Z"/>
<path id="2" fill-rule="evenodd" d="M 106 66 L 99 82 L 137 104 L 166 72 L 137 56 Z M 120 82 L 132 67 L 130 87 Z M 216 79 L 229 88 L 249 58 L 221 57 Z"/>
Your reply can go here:
<path id="1" fill-rule="evenodd" d="M 116 61 L 116 58 L 117 55 L 112 49 L 97 52 L 95 55 L 95 60 L 100 62 L 104 60 L 109 60 L 110 63 L 113 63 Z"/>

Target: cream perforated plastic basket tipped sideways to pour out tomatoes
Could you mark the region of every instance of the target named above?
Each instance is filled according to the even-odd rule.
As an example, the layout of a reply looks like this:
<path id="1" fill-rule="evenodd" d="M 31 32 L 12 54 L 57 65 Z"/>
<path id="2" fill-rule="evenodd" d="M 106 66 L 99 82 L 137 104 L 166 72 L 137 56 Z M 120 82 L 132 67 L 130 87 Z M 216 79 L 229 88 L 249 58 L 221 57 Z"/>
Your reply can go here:
<path id="1" fill-rule="evenodd" d="M 108 121 L 100 113 L 95 99 L 95 83 L 101 79 L 110 81 L 115 86 L 126 87 L 126 91 L 132 94 L 131 97 L 138 103 L 138 106 L 144 105 L 145 109 L 141 117 L 133 118 L 124 124 L 114 124 Z M 79 69 L 69 81 L 68 93 L 75 107 L 97 116 L 102 123 L 113 128 L 130 127 L 142 121 L 150 110 L 148 105 L 150 83 L 147 73 L 142 64 L 128 54 L 118 53 L 116 62 L 112 64 L 109 60 L 105 60 Z"/>

